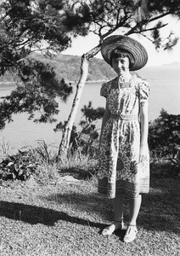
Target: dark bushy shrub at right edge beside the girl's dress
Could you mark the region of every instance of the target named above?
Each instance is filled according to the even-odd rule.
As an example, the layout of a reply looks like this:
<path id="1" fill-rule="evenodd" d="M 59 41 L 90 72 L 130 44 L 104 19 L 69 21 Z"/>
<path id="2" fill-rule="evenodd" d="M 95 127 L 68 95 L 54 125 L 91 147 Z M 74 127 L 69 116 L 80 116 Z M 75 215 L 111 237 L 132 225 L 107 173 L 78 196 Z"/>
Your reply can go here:
<path id="1" fill-rule="evenodd" d="M 149 148 L 151 169 L 155 177 L 170 177 L 180 174 L 179 114 L 168 114 L 162 109 L 159 118 L 150 122 Z M 154 169 L 159 171 L 154 172 Z"/>

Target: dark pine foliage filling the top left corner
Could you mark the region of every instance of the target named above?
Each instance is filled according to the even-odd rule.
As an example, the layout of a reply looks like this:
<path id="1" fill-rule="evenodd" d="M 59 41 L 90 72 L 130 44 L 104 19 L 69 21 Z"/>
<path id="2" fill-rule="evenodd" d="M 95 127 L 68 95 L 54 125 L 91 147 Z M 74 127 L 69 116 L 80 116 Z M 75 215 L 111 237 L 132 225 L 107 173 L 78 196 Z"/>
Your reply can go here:
<path id="1" fill-rule="evenodd" d="M 70 38 L 60 26 L 58 11 L 42 2 L 46 3 L 11 0 L 1 4 L 1 74 L 20 70 L 21 61 L 35 49 L 41 50 L 44 39 L 46 51 L 67 47 Z"/>

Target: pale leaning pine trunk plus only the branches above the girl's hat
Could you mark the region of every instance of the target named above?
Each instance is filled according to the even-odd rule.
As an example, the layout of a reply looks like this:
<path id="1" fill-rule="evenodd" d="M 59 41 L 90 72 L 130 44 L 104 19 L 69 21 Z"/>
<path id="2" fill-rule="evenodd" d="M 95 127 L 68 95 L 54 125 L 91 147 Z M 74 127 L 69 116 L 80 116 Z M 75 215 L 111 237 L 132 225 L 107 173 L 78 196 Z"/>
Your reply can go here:
<path id="1" fill-rule="evenodd" d="M 76 85 L 76 96 L 59 145 L 59 157 L 65 156 L 69 147 L 70 132 L 87 79 L 88 62 L 98 53 L 104 38 L 113 32 L 122 35 L 139 34 L 155 44 L 156 49 L 162 47 L 169 50 L 178 41 L 172 32 L 166 38 L 165 43 L 160 36 L 160 29 L 166 26 L 160 20 L 161 18 L 167 15 L 180 17 L 180 2 L 178 0 L 171 2 L 166 0 L 160 2 L 155 0 L 89 0 L 74 4 L 73 9 L 76 15 L 71 18 L 70 22 L 73 23 L 78 19 L 84 20 L 87 29 L 98 35 L 99 44 L 82 55 L 81 77 Z"/>

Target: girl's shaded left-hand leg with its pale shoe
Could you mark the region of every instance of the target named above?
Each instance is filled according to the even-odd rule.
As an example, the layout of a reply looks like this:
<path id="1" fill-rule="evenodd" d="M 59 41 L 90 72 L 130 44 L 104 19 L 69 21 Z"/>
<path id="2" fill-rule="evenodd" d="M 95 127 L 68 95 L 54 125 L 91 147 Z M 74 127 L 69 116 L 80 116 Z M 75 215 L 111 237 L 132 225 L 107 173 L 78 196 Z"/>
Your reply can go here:
<path id="1" fill-rule="evenodd" d="M 103 236 L 110 236 L 115 230 L 123 229 L 123 201 L 124 195 L 116 195 L 115 199 L 113 199 L 115 221 L 102 231 Z"/>

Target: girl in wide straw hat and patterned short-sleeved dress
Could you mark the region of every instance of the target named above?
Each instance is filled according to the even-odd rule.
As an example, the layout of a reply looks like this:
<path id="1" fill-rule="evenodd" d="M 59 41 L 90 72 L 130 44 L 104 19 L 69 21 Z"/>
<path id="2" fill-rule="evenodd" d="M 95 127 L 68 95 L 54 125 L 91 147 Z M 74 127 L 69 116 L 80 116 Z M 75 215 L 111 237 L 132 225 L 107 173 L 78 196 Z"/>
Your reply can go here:
<path id="1" fill-rule="evenodd" d="M 98 192 L 113 200 L 115 214 L 114 223 L 102 234 L 123 229 L 123 200 L 127 196 L 130 214 L 123 241 L 130 242 L 138 232 L 142 194 L 149 192 L 149 83 L 130 71 L 145 66 L 148 54 L 138 41 L 118 35 L 104 40 L 101 53 L 117 73 L 101 88 L 106 108 L 99 141 Z"/>

